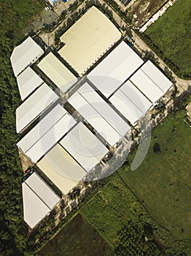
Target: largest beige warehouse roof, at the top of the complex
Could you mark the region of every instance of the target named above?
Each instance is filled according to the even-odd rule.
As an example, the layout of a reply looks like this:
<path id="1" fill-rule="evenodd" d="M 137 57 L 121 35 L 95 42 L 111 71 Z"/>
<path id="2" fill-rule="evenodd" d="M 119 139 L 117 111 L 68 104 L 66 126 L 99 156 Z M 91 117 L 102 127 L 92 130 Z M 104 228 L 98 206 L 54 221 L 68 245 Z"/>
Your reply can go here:
<path id="1" fill-rule="evenodd" d="M 82 75 L 121 37 L 120 31 L 96 7 L 91 7 L 61 36 L 63 59 Z"/>

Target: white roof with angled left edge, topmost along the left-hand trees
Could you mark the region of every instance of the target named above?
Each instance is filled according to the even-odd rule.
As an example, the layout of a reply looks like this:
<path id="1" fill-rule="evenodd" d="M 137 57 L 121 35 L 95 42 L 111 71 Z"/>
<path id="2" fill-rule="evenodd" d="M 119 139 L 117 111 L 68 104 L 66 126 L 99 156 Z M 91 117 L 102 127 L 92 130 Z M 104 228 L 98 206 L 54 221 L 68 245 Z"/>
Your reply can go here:
<path id="1" fill-rule="evenodd" d="M 15 76 L 19 75 L 29 64 L 33 63 L 44 53 L 38 44 L 28 37 L 12 51 L 11 64 Z"/>

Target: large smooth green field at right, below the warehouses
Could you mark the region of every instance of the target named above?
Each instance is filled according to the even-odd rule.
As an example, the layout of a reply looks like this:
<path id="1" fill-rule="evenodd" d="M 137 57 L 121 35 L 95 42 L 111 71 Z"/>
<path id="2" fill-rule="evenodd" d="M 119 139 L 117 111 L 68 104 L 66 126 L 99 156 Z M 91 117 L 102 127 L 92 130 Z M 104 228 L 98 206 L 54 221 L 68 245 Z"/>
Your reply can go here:
<path id="1" fill-rule="evenodd" d="M 119 170 L 149 214 L 180 240 L 191 233 L 191 128 L 184 116 L 184 110 L 171 113 L 155 129 L 147 157 L 137 170 L 129 166 Z"/>

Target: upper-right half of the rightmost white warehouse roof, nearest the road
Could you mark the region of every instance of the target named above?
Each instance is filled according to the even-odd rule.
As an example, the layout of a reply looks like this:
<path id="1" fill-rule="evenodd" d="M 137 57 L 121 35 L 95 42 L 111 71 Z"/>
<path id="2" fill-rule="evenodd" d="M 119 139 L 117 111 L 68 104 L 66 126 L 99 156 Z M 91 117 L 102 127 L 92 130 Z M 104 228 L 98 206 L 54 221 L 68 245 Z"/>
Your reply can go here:
<path id="1" fill-rule="evenodd" d="M 141 70 L 165 93 L 173 84 L 171 81 L 159 70 L 157 67 L 152 64 L 151 61 L 147 61 L 142 67 Z"/>

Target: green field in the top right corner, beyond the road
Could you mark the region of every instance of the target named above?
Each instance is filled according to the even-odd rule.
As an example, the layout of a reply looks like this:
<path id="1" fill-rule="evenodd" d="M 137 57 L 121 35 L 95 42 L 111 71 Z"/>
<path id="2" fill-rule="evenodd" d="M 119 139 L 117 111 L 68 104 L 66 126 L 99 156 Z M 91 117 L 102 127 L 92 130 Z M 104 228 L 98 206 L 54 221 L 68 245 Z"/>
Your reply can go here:
<path id="1" fill-rule="evenodd" d="M 191 78 L 190 17 L 191 1 L 179 0 L 144 32 L 144 39 L 151 48 L 179 77 L 185 79 Z"/>

